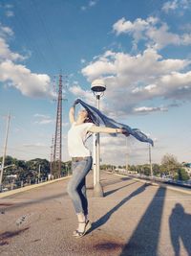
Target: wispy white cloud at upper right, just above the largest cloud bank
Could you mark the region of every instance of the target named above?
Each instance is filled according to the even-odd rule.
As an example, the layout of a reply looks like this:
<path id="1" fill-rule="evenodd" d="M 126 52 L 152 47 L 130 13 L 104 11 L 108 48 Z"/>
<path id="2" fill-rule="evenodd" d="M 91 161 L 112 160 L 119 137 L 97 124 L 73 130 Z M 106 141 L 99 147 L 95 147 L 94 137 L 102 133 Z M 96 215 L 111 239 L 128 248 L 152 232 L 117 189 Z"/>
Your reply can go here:
<path id="1" fill-rule="evenodd" d="M 138 18 L 134 22 L 119 19 L 113 25 L 113 31 L 117 34 L 132 35 L 133 47 L 137 49 L 140 40 L 145 41 L 147 47 L 162 49 L 167 45 L 190 45 L 191 34 L 178 35 L 171 33 L 168 25 L 161 22 L 158 18 L 148 17 L 147 19 Z"/>

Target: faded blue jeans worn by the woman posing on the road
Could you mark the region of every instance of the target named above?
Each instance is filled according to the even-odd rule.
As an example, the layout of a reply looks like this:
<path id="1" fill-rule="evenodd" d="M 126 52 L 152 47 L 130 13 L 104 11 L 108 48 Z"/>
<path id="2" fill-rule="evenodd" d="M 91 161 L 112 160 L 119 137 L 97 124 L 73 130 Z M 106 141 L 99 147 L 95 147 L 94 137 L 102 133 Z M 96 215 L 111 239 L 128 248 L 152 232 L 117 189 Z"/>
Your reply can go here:
<path id="1" fill-rule="evenodd" d="M 86 175 L 90 172 L 92 163 L 92 156 L 87 156 L 83 160 L 72 161 L 73 176 L 68 183 L 67 191 L 73 200 L 76 214 L 83 213 L 88 215 Z"/>

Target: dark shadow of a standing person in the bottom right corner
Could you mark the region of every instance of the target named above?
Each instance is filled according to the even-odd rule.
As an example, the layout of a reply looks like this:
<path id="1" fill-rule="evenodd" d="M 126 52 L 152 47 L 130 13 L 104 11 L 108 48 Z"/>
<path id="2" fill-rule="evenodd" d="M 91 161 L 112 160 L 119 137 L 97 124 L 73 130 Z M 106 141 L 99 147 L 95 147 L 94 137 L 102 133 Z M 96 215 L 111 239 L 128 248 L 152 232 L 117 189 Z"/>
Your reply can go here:
<path id="1" fill-rule="evenodd" d="M 188 255 L 191 255 L 191 215 L 184 212 L 180 203 L 177 203 L 172 210 L 169 227 L 175 255 L 180 256 L 180 240 Z"/>

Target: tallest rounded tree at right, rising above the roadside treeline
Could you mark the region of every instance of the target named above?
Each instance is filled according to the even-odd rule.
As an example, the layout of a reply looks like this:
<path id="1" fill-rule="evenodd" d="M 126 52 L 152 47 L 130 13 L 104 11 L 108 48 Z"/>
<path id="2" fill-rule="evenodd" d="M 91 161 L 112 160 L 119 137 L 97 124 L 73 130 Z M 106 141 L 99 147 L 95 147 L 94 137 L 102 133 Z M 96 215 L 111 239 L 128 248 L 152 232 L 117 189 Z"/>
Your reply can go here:
<path id="1" fill-rule="evenodd" d="M 164 174 L 171 175 L 175 177 L 178 169 L 180 168 L 180 163 L 178 162 L 176 156 L 173 154 L 165 154 L 161 159 L 161 171 Z"/>

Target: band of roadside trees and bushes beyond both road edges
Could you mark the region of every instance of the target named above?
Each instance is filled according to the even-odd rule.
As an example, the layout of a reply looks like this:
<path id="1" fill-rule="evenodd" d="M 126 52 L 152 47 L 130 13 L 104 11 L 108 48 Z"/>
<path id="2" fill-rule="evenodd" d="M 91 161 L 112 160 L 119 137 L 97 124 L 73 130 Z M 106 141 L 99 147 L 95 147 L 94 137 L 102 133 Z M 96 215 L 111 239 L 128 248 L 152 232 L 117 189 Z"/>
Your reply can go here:
<path id="1" fill-rule="evenodd" d="M 0 157 L 0 163 L 2 157 Z M 9 189 L 42 182 L 50 178 L 51 163 L 47 159 L 35 158 L 29 161 L 19 160 L 11 156 L 7 156 L 5 160 L 5 170 L 3 175 L 3 183 Z M 110 172 L 128 172 L 130 174 L 150 175 L 151 166 L 149 164 L 115 166 L 110 164 L 102 164 L 101 170 Z M 165 154 L 160 164 L 152 164 L 153 175 L 158 177 L 166 177 L 172 180 L 186 181 L 191 178 L 191 168 L 188 163 L 179 163 L 177 158 L 172 154 Z M 61 175 L 69 175 L 71 173 L 71 161 L 63 162 Z M 11 188 L 10 188 L 10 187 Z"/>

